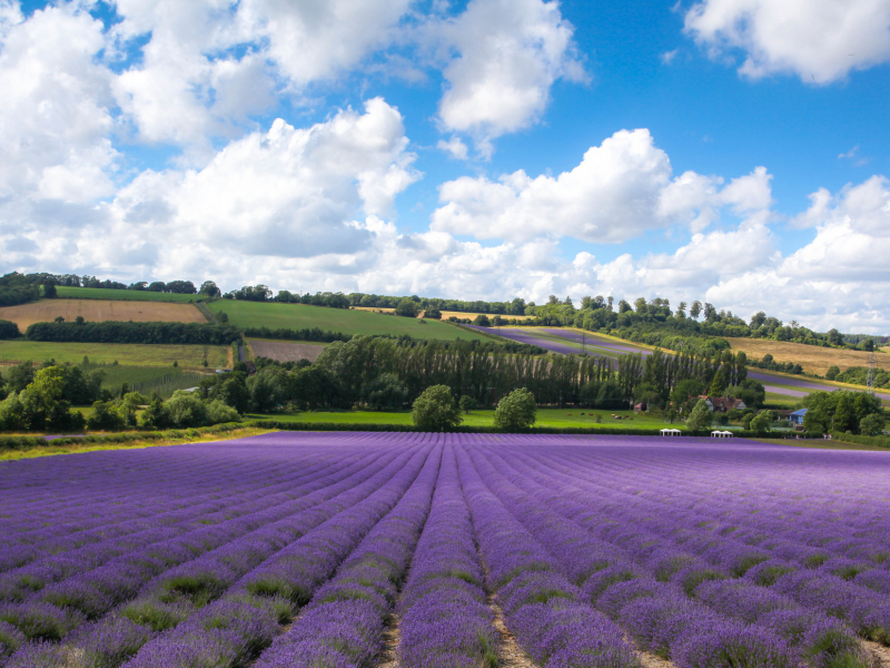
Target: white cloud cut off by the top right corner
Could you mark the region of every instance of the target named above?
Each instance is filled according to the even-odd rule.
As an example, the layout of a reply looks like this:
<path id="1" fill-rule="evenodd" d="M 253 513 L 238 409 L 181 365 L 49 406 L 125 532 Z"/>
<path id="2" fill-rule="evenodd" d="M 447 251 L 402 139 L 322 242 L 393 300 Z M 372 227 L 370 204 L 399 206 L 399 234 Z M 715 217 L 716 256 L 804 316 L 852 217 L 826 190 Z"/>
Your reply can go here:
<path id="1" fill-rule="evenodd" d="M 830 84 L 890 60 L 886 0 L 703 0 L 685 32 L 712 56 L 745 53 L 739 73 L 760 79 L 794 73 Z"/>

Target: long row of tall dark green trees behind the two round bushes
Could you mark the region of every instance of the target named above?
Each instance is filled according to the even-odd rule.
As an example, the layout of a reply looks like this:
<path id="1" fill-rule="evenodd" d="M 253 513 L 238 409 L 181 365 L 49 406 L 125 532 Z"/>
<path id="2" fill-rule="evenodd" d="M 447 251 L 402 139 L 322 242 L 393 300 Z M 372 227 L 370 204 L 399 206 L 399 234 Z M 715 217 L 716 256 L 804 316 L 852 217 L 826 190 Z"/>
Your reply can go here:
<path id="1" fill-rule="evenodd" d="M 615 410 L 643 401 L 682 412 L 699 394 L 725 393 L 759 407 L 763 387 L 746 376 L 744 353 L 729 351 L 665 355 L 657 350 L 646 358 L 626 354 L 611 360 L 510 354 L 502 346 L 459 341 L 404 345 L 392 338 L 356 336 L 332 343 L 313 365 L 261 361 L 258 373 L 245 381 L 245 403 L 234 407 L 243 411 L 249 404 L 258 412 L 286 406 L 400 409 L 432 385 L 446 385 L 454 396 L 467 396 L 487 407 L 517 387 L 530 390 L 540 405 Z"/>

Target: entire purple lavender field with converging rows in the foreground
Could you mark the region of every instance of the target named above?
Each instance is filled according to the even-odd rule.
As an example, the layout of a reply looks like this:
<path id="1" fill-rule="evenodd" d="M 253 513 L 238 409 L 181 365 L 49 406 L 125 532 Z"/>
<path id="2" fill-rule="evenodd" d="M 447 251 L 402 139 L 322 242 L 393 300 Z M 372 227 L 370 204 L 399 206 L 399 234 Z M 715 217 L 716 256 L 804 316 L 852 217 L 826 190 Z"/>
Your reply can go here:
<path id="1" fill-rule="evenodd" d="M 505 642 L 541 668 L 872 666 L 890 455 L 275 433 L 0 465 L 1 666 L 494 668 Z"/>

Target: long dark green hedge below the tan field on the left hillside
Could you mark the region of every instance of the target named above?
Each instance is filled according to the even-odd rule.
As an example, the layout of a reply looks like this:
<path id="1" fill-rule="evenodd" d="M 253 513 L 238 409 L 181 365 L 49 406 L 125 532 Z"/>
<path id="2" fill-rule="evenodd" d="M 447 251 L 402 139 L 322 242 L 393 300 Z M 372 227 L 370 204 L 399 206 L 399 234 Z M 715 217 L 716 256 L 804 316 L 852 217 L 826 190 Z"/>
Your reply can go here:
<path id="1" fill-rule="evenodd" d="M 240 338 L 235 327 L 201 323 L 33 323 L 24 335 L 56 343 L 175 343 L 228 345 Z"/>

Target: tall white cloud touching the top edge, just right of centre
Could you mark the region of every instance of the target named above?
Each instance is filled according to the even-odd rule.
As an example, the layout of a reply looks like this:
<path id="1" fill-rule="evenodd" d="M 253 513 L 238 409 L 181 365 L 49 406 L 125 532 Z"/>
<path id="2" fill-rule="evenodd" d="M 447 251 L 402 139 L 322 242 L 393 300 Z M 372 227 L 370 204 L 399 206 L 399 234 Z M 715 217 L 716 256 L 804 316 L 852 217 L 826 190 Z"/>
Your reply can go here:
<path id="1" fill-rule="evenodd" d="M 443 129 L 469 132 L 490 155 L 493 139 L 536 122 L 556 79 L 585 78 L 572 31 L 556 2 L 469 2 L 435 33 L 454 53 L 443 70 Z"/>

